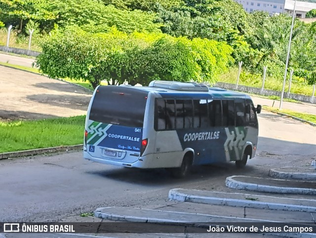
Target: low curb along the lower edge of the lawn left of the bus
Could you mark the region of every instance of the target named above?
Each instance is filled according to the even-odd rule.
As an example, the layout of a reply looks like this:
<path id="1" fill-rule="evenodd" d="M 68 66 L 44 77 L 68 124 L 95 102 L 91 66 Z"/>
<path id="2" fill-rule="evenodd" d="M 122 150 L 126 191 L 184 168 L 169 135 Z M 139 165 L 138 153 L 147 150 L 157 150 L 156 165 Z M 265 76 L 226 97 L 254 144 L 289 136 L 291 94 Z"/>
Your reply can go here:
<path id="1" fill-rule="evenodd" d="M 74 145 L 74 146 L 57 146 L 57 147 L 50 147 L 50 148 L 44 148 L 44 149 L 7 152 L 7 153 L 1 153 L 0 159 L 35 156 L 35 155 L 40 155 L 40 154 L 45 154 L 45 153 L 54 153 L 54 152 L 60 152 L 60 151 L 82 150 L 82 148 L 83 148 L 83 144 L 79 144 L 79 145 Z"/>

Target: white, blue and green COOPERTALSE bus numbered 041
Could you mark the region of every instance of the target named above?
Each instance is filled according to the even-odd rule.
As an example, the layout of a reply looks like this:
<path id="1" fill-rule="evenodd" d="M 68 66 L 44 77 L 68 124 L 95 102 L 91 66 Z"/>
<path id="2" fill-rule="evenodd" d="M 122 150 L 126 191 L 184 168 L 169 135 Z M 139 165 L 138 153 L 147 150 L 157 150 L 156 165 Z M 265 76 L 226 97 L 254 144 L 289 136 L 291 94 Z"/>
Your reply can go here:
<path id="1" fill-rule="evenodd" d="M 137 168 L 168 168 L 184 177 L 192 165 L 255 156 L 261 106 L 250 96 L 194 82 L 98 86 L 84 134 L 84 158 Z"/>

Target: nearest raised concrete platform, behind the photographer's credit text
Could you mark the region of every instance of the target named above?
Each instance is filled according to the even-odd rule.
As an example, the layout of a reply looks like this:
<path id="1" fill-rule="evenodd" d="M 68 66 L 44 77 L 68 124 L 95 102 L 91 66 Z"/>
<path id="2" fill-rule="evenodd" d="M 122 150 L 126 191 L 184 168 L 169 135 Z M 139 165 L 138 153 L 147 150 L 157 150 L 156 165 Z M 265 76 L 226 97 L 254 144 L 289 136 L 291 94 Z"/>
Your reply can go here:
<path id="1" fill-rule="evenodd" d="M 298 218 L 297 212 L 292 214 L 292 222 L 289 223 L 288 213 L 283 214 L 283 217 L 279 218 L 279 212 L 275 214 L 276 217 L 273 219 L 265 220 L 265 219 L 251 219 L 251 218 L 240 218 L 232 216 L 232 211 L 229 209 L 225 210 L 225 206 L 218 206 L 217 210 L 221 215 L 208 215 L 202 213 L 193 213 L 188 211 L 193 211 L 194 209 L 197 211 L 202 211 L 204 213 L 212 213 L 214 212 L 214 206 L 209 207 L 210 205 L 206 204 L 194 204 L 190 202 L 179 203 L 179 206 L 172 205 L 168 207 L 163 207 L 160 209 L 163 210 L 153 210 L 153 209 L 141 209 L 141 208 L 126 208 L 126 207 L 104 207 L 98 208 L 95 211 L 95 216 L 102 219 L 108 219 L 112 221 L 121 221 L 121 222 L 132 222 L 133 225 L 138 227 L 141 230 L 146 232 L 147 229 L 153 231 L 160 230 L 161 233 L 207 233 L 207 230 L 212 227 L 222 227 L 225 229 L 225 232 L 228 231 L 229 227 L 233 226 L 237 228 L 238 226 L 243 228 L 245 234 L 255 235 L 250 232 L 250 227 L 255 226 L 259 230 L 262 230 L 263 227 L 278 227 L 280 233 L 268 233 L 263 232 L 265 234 L 270 234 L 274 236 L 283 236 L 283 237 L 302 237 L 302 238 L 316 238 L 316 234 L 311 233 L 301 233 L 301 234 L 293 234 L 293 233 L 284 233 L 286 232 L 286 226 L 299 227 L 303 226 L 307 229 L 307 227 L 311 227 L 314 224 L 313 231 L 316 232 L 316 225 L 313 221 L 312 216 L 307 219 L 306 214 L 301 214 L 300 218 Z M 192 207 L 190 207 L 192 206 Z M 197 208 L 197 206 L 199 208 Z M 208 208 L 203 208 L 201 206 L 208 206 Z M 223 209 L 224 208 L 224 209 Z M 249 208 L 253 209 L 253 208 Z M 241 209 L 242 210 L 242 209 Z M 237 214 L 242 214 L 243 212 L 235 211 Z M 249 211 L 250 214 L 252 212 L 252 217 L 258 218 L 258 210 L 255 209 Z M 187 211 L 187 212 L 185 212 Z M 229 215 L 228 215 L 229 214 Z M 233 214 L 235 215 L 235 214 Z M 268 217 L 268 212 L 266 216 L 261 216 L 261 218 Z M 270 218 L 272 218 L 270 214 Z M 276 220 L 283 220 L 286 222 L 275 222 Z M 303 225 L 304 224 L 304 225 Z M 133 226 L 132 225 L 132 226 Z M 158 225 L 158 226 L 157 226 Z M 299 236 L 298 236 L 299 235 Z"/>

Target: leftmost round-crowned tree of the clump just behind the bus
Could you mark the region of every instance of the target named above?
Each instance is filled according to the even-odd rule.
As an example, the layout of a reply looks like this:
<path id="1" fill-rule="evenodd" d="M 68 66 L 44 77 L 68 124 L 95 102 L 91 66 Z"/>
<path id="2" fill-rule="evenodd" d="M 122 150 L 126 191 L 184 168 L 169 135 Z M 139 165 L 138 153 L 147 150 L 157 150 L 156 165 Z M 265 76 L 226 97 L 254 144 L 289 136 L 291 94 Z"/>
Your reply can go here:
<path id="1" fill-rule="evenodd" d="M 95 88 L 104 79 L 98 66 L 107 60 L 106 47 L 91 34 L 68 30 L 65 34 L 54 34 L 42 43 L 36 66 L 51 78 L 83 79 Z"/>

